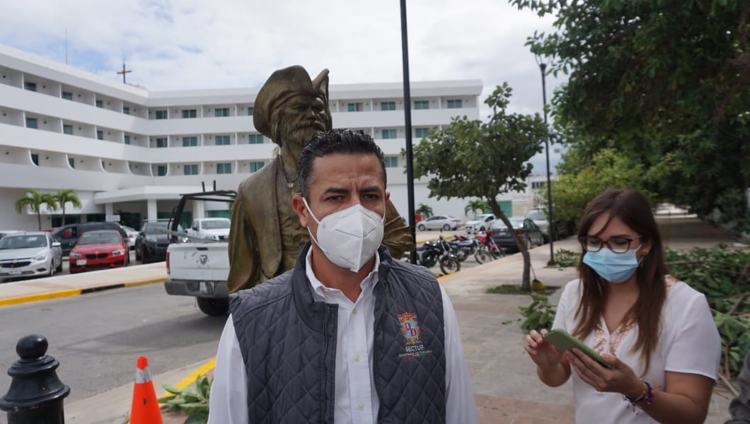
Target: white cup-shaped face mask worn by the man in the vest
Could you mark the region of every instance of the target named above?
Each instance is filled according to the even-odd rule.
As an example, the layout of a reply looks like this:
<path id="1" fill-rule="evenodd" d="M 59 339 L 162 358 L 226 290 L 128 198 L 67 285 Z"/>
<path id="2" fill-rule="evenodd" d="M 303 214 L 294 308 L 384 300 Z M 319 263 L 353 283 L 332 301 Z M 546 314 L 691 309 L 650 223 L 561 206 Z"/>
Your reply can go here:
<path id="1" fill-rule="evenodd" d="M 305 208 L 318 223 L 317 240 L 308 226 L 311 239 L 323 250 L 326 258 L 339 267 L 356 273 L 375 255 L 383 242 L 384 217 L 362 205 L 331 213 L 319 221 L 308 201 L 302 198 L 302 202 L 305 202 Z"/>

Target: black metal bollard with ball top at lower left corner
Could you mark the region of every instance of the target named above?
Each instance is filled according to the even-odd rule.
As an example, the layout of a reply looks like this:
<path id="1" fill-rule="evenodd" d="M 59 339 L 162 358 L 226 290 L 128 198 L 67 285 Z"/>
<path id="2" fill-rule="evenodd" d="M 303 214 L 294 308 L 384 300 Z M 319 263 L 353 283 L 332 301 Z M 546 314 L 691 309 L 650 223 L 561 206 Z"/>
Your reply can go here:
<path id="1" fill-rule="evenodd" d="M 48 346 L 46 338 L 37 334 L 18 341 L 16 353 L 21 359 L 7 370 L 13 380 L 0 398 L 7 424 L 65 424 L 62 401 L 71 388 L 57 378 L 60 363 L 46 355 Z"/>

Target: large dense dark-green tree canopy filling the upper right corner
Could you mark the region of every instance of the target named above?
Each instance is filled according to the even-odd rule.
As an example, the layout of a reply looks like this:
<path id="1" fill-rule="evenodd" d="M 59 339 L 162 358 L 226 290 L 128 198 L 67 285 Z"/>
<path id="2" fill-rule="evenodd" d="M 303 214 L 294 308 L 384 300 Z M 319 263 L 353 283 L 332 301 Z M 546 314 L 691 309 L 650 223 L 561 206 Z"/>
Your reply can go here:
<path id="1" fill-rule="evenodd" d="M 557 127 L 655 169 L 658 201 L 750 226 L 750 3 L 736 0 L 510 0 L 555 30 L 532 52 L 567 73 L 553 97 Z"/>

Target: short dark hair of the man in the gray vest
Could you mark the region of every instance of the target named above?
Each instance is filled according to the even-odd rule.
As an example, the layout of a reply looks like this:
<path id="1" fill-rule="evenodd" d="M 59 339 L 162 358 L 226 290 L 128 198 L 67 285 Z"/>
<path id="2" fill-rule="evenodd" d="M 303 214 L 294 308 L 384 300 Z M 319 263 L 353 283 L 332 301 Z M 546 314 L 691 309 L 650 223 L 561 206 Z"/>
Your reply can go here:
<path id="1" fill-rule="evenodd" d="M 383 171 L 383 184 L 386 181 L 386 160 L 375 140 L 365 133 L 335 128 L 325 133 L 318 133 L 299 155 L 297 172 L 299 175 L 299 190 L 302 197 L 310 196 L 310 181 L 313 175 L 313 161 L 316 157 L 329 154 L 374 154 L 380 161 Z"/>

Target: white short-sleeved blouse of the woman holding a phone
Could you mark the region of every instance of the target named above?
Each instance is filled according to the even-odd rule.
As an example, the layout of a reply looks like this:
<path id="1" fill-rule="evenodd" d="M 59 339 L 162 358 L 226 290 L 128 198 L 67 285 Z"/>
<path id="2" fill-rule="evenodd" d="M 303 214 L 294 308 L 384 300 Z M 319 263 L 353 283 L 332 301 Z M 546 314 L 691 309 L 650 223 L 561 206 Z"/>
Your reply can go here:
<path id="1" fill-rule="evenodd" d="M 636 341 L 637 325 L 607 330 L 604 317 L 594 332 L 583 342 L 599 354 L 609 352 L 628 364 L 635 375 L 651 387 L 666 390 L 664 372 L 684 372 L 716 379 L 721 360 L 721 338 L 713 321 L 706 297 L 672 276 L 665 278 L 667 298 L 661 312 L 661 336 L 651 355 L 649 372 L 643 375 L 644 364 L 631 348 Z M 575 327 L 575 311 L 580 303 L 583 284 L 574 279 L 565 285 L 557 304 L 553 328 L 571 333 Z M 622 399 L 620 393 L 602 393 L 572 372 L 577 423 L 656 423 L 645 412 Z"/>

